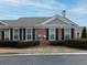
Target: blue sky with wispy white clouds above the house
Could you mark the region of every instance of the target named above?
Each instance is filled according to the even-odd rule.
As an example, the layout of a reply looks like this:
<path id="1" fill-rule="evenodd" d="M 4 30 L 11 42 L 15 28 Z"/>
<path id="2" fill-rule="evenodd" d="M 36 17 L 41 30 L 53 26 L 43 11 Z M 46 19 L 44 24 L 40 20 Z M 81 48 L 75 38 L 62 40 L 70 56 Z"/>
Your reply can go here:
<path id="1" fill-rule="evenodd" d="M 87 26 L 87 0 L 0 0 L 0 20 L 62 14 Z"/>

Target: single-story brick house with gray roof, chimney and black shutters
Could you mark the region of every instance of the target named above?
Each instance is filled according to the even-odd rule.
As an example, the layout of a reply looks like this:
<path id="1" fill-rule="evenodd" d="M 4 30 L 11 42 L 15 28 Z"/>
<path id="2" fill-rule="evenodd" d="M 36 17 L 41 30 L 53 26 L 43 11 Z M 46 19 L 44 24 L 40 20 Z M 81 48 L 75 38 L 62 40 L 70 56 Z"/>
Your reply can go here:
<path id="1" fill-rule="evenodd" d="M 0 20 L 1 41 L 59 41 L 80 37 L 80 26 L 63 15 Z"/>

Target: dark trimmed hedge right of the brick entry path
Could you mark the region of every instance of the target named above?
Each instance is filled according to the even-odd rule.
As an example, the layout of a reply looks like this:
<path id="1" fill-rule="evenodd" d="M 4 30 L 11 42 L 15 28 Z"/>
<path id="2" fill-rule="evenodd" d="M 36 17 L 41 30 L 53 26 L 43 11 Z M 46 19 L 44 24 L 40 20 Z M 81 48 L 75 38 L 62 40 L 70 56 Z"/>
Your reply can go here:
<path id="1" fill-rule="evenodd" d="M 87 40 L 51 41 L 50 44 L 87 50 Z"/>

